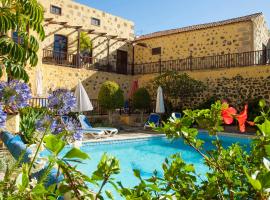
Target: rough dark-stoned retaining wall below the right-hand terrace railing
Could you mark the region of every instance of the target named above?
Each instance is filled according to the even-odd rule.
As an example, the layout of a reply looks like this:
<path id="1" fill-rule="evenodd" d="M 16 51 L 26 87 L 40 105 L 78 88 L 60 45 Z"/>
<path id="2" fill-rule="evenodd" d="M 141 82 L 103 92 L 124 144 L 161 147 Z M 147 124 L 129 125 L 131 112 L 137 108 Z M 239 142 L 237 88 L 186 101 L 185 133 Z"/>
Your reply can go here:
<path id="1" fill-rule="evenodd" d="M 247 101 L 264 98 L 270 104 L 270 66 L 252 66 L 207 71 L 187 71 L 190 77 L 201 80 L 207 88 L 191 98 L 178 99 L 176 105 L 196 107 L 211 97 L 228 99 L 240 108 Z M 141 87 L 147 87 L 157 74 L 136 76 Z M 156 94 L 152 94 L 155 98 Z"/>

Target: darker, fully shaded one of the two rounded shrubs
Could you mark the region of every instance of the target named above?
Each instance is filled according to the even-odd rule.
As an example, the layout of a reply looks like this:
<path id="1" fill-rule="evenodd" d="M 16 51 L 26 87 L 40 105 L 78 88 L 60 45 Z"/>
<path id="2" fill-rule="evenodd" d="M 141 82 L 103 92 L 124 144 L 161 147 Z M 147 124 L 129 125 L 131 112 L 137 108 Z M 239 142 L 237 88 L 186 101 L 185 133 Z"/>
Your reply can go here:
<path id="1" fill-rule="evenodd" d="M 139 88 L 133 95 L 132 106 L 135 109 L 145 110 L 151 106 L 151 97 L 146 88 Z"/>

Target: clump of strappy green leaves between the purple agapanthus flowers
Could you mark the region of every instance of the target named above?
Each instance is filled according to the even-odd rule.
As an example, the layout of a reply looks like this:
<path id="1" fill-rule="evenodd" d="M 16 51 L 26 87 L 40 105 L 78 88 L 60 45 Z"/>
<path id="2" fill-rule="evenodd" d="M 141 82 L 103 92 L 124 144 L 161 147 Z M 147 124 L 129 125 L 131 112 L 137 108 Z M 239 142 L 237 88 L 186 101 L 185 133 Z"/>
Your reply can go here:
<path id="1" fill-rule="evenodd" d="M 46 113 L 46 108 L 25 107 L 20 110 L 20 133 L 22 139 L 27 144 L 36 142 L 36 122 Z"/>

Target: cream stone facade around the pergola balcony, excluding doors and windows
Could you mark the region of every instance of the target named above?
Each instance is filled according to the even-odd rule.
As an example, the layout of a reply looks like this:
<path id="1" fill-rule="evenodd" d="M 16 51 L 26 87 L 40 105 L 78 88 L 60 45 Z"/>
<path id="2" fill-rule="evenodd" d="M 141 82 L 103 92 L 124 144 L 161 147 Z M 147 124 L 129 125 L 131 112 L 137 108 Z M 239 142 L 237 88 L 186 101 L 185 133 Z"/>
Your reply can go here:
<path id="1" fill-rule="evenodd" d="M 118 16 L 105 13 L 85 5 L 76 3 L 72 0 L 49 0 L 40 3 L 45 9 L 45 19 L 53 18 L 56 22 L 66 22 L 69 26 L 82 26 L 82 29 L 92 29 L 98 33 L 106 33 L 110 36 L 125 38 L 127 41 L 134 39 L 134 23 Z M 52 14 L 51 6 L 57 6 L 61 9 L 61 15 Z M 92 18 L 99 20 L 100 25 L 93 25 Z M 44 23 L 46 24 L 46 22 Z M 49 24 L 45 26 L 46 39 L 42 42 L 41 49 L 53 49 L 55 34 L 63 35 L 68 40 L 68 53 L 77 53 L 77 38 L 78 33 L 74 28 L 63 28 L 56 33 L 61 26 L 57 24 Z M 52 34 L 53 33 L 53 34 Z M 111 65 L 115 67 L 117 50 L 129 51 L 130 45 L 128 42 L 116 41 L 108 39 L 105 36 L 89 34 L 93 43 L 93 60 L 94 62 L 106 63 L 107 55 Z M 108 45 L 109 50 L 108 50 Z M 131 62 L 131 61 L 129 61 Z"/>

